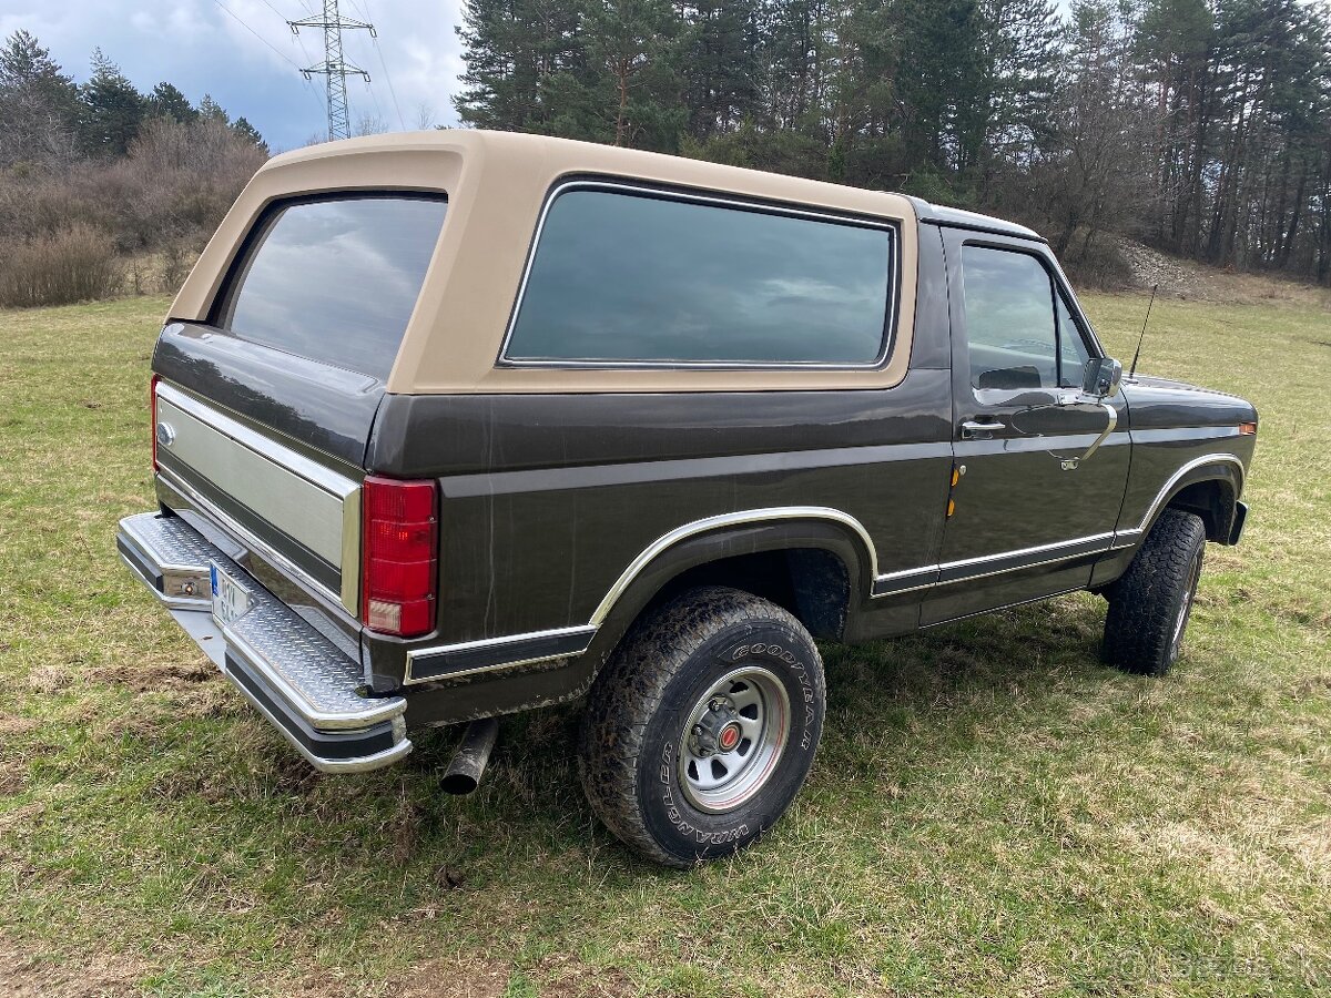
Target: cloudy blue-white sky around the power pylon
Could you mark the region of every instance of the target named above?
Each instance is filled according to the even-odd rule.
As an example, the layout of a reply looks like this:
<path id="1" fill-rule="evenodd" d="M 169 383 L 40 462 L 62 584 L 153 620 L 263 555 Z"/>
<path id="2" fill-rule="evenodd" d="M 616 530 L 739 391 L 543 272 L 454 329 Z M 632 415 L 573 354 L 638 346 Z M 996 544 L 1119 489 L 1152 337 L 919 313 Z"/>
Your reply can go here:
<path id="1" fill-rule="evenodd" d="M 343 17 L 378 31 L 377 48 L 365 31 L 343 32 L 346 60 L 370 73 L 369 85 L 346 81 L 353 129 L 363 114 L 391 130 L 457 124 L 461 5 L 341 0 Z M 0 0 L 0 37 L 24 28 L 77 83 L 100 45 L 140 90 L 165 80 L 194 104 L 209 93 L 276 153 L 327 132 L 323 77 L 306 83 L 297 71 L 323 61 L 322 32 L 295 39 L 285 24 L 314 13 L 322 0 Z"/>

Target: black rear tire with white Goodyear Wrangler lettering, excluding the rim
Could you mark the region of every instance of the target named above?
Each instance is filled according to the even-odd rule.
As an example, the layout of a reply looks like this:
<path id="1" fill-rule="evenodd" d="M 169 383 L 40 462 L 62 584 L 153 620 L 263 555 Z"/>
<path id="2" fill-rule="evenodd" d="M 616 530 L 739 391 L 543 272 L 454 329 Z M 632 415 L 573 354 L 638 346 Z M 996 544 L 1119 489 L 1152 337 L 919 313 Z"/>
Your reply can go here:
<path id="1" fill-rule="evenodd" d="M 707 813 L 683 785 L 684 729 L 700 697 L 737 668 L 779 680 L 789 733 L 752 797 Z M 823 659 L 791 613 L 739 589 L 683 592 L 632 625 L 592 685 L 578 758 L 587 800 L 647 860 L 684 869 L 729 856 L 795 798 L 817 752 L 825 703 Z"/>

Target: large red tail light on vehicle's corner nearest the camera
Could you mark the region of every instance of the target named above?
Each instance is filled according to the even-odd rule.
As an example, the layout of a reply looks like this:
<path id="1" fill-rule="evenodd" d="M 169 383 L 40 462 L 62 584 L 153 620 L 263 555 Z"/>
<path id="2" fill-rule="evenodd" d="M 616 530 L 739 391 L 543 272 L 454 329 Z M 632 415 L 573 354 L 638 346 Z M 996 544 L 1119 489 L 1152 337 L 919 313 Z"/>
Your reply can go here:
<path id="1" fill-rule="evenodd" d="M 367 475 L 361 490 L 361 619 L 415 637 L 434 629 L 439 516 L 434 482 Z"/>

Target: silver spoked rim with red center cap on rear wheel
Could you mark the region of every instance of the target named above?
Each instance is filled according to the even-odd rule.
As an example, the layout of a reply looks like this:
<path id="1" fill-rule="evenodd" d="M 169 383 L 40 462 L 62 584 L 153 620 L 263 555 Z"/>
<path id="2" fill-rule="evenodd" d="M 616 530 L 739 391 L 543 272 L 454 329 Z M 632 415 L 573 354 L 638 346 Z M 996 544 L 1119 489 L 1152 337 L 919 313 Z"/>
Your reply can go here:
<path id="1" fill-rule="evenodd" d="M 721 814 L 753 797 L 776 772 L 791 736 L 791 697 L 776 673 L 748 665 L 721 676 L 689 712 L 679 782 L 692 804 Z"/>

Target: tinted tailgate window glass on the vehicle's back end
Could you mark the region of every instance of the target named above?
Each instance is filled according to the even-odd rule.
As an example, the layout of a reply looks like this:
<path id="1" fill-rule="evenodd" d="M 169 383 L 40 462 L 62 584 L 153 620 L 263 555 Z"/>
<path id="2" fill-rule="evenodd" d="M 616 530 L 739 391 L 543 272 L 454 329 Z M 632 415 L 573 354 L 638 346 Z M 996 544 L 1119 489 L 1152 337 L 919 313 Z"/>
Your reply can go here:
<path id="1" fill-rule="evenodd" d="M 387 378 L 434 253 L 442 198 L 341 197 L 272 212 L 232 282 L 222 329 Z"/>

